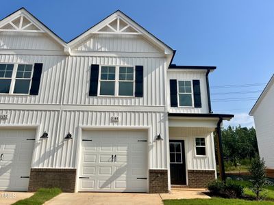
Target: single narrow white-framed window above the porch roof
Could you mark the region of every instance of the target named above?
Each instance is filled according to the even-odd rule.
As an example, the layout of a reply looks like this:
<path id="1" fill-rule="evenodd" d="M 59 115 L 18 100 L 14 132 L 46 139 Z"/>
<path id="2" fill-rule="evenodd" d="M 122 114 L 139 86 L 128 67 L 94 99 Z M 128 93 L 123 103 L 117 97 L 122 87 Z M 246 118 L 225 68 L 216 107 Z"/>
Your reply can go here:
<path id="1" fill-rule="evenodd" d="M 193 91 L 191 81 L 178 81 L 179 107 L 193 107 Z"/>

